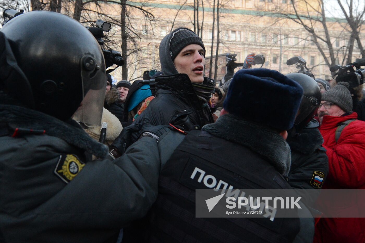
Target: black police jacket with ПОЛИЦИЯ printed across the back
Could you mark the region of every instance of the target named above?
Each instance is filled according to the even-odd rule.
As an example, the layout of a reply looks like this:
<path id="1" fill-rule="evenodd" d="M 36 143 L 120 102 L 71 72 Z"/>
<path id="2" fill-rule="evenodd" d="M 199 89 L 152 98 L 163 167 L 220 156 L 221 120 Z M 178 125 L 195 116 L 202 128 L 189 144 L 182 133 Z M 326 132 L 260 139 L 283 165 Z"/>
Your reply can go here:
<path id="1" fill-rule="evenodd" d="M 297 218 L 195 217 L 195 189 L 222 190 L 219 181 L 234 189 L 290 189 L 284 179 L 289 167 L 290 148 L 280 135 L 233 115 L 190 131 L 160 172 L 145 241 L 292 242 Z M 207 187 L 201 175 L 216 183 L 209 180 Z"/>

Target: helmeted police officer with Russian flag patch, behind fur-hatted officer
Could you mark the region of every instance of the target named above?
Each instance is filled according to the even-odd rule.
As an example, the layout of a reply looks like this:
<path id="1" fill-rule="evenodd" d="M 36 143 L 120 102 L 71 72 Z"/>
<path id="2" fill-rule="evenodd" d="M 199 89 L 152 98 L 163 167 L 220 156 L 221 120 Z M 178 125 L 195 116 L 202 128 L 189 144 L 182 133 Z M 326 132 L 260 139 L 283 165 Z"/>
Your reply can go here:
<path id="1" fill-rule="evenodd" d="M 318 130 L 319 123 L 313 119 L 322 94 L 317 82 L 306 74 L 289 73 L 285 76 L 299 83 L 304 90 L 294 126 L 288 131 L 287 142 L 291 149 L 292 159 L 288 180 L 294 189 L 316 190 L 302 197 L 310 205 L 319 196 L 319 189 L 328 174 L 328 158 L 326 150 L 322 147 L 323 138 Z M 314 175 L 318 174 L 323 180 L 321 184 L 313 180 Z M 313 208 L 309 208 L 309 211 L 312 215 L 317 213 Z M 301 225 L 304 224 L 303 221 L 307 221 L 306 228 L 302 227 L 294 242 L 312 242 L 313 240 L 314 219 L 302 218 Z"/>

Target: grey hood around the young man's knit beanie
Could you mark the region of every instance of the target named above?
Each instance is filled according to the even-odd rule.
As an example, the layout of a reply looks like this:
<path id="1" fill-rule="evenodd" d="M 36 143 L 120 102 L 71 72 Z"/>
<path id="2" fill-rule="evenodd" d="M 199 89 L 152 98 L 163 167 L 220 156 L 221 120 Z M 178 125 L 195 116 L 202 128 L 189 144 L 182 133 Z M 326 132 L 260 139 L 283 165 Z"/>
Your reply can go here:
<path id="1" fill-rule="evenodd" d="M 178 74 L 174 62 L 171 59 L 170 42 L 172 37 L 174 36 L 174 33 L 182 29 L 189 30 L 188 28 L 183 28 L 183 27 L 177 28 L 174 32 L 171 32 L 170 34 L 166 35 L 164 39 L 161 40 L 159 55 L 160 55 L 161 69 L 164 75 Z"/>

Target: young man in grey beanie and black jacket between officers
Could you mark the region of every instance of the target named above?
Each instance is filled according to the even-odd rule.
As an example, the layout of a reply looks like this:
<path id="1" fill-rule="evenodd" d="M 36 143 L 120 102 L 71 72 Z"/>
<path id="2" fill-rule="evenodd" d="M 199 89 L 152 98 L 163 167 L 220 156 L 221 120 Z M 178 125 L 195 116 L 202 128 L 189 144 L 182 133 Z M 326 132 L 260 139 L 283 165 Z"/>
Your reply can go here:
<path id="1" fill-rule="evenodd" d="M 177 28 L 161 40 L 159 53 L 163 75 L 155 77 L 154 85 L 150 84 L 156 97 L 134 124 L 141 123 L 146 116 L 153 126 L 171 123 L 185 131 L 213 123 L 207 103 L 214 93 L 215 82 L 204 77 L 205 47 L 201 38 L 188 28 Z M 131 133 L 138 138 L 138 128 Z M 130 141 L 127 138 L 130 135 L 115 140 L 111 147 L 114 156 Z"/>

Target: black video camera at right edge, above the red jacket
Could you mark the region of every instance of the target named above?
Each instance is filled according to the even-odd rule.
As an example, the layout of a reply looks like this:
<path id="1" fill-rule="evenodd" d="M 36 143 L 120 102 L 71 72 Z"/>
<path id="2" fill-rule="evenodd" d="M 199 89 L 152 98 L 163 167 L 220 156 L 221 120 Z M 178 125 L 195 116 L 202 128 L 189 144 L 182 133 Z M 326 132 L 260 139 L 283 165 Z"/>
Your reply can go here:
<path id="1" fill-rule="evenodd" d="M 356 62 L 349 63 L 345 66 L 337 64 L 330 67 L 330 71 L 336 72 L 338 70 L 333 75 L 333 77 L 337 75 L 336 82 L 347 82 L 350 84 L 349 89 L 351 89 L 364 84 L 365 69 L 360 68 L 361 66 L 365 66 L 365 58 L 356 59 Z"/>

